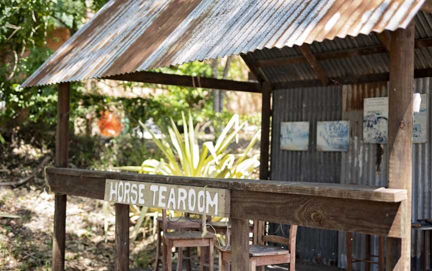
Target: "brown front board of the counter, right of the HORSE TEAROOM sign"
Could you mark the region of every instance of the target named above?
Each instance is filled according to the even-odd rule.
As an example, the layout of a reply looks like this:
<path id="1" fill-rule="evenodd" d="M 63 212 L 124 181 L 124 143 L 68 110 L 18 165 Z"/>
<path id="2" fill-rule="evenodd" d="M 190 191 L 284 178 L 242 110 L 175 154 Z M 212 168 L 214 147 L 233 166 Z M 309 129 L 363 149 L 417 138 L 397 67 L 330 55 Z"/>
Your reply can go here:
<path id="1" fill-rule="evenodd" d="M 392 202 L 231 190 L 231 217 L 394 237 L 401 234 L 400 217 L 396 216 L 399 206 Z"/>

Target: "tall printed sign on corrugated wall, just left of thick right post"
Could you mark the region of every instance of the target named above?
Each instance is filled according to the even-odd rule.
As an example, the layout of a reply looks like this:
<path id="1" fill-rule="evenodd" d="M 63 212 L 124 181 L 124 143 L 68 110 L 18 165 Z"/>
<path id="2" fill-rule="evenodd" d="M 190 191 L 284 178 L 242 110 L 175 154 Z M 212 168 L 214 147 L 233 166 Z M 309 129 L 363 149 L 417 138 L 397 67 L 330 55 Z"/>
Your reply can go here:
<path id="1" fill-rule="evenodd" d="M 363 108 L 363 142 L 387 143 L 388 97 L 365 98 Z"/>

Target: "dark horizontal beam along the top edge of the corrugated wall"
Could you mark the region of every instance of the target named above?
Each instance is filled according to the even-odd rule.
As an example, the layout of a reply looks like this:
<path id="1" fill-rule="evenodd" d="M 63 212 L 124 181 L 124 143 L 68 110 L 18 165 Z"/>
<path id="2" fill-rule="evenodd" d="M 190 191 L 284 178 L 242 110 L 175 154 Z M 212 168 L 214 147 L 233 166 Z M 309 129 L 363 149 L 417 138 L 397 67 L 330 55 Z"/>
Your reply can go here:
<path id="1" fill-rule="evenodd" d="M 414 70 L 414 78 L 431 77 L 432 68 L 420 68 Z M 329 78 L 327 85 L 340 84 L 357 84 L 357 83 L 372 83 L 385 82 L 390 79 L 389 72 L 365 74 L 365 75 L 346 75 L 343 77 Z M 298 81 L 280 81 L 273 82 L 273 89 L 300 88 L 300 87 L 315 87 L 322 86 L 319 80 L 298 80 Z"/>

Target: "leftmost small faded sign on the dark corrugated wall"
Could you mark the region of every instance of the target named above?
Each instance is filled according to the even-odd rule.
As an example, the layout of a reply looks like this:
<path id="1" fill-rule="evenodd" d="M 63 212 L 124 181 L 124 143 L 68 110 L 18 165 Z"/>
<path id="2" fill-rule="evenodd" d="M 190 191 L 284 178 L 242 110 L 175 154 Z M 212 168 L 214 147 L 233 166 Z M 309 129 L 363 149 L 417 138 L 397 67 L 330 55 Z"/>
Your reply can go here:
<path id="1" fill-rule="evenodd" d="M 280 148 L 307 150 L 309 148 L 309 121 L 280 122 Z"/>

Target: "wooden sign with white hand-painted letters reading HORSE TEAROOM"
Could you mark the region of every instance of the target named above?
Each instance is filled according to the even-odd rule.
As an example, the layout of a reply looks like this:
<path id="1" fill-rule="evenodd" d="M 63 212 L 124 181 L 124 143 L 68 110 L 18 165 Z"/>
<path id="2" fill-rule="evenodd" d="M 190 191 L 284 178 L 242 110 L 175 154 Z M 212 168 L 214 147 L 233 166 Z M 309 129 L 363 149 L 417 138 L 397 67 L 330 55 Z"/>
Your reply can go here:
<path id="1" fill-rule="evenodd" d="M 228 189 L 106 179 L 104 200 L 229 217 Z"/>

